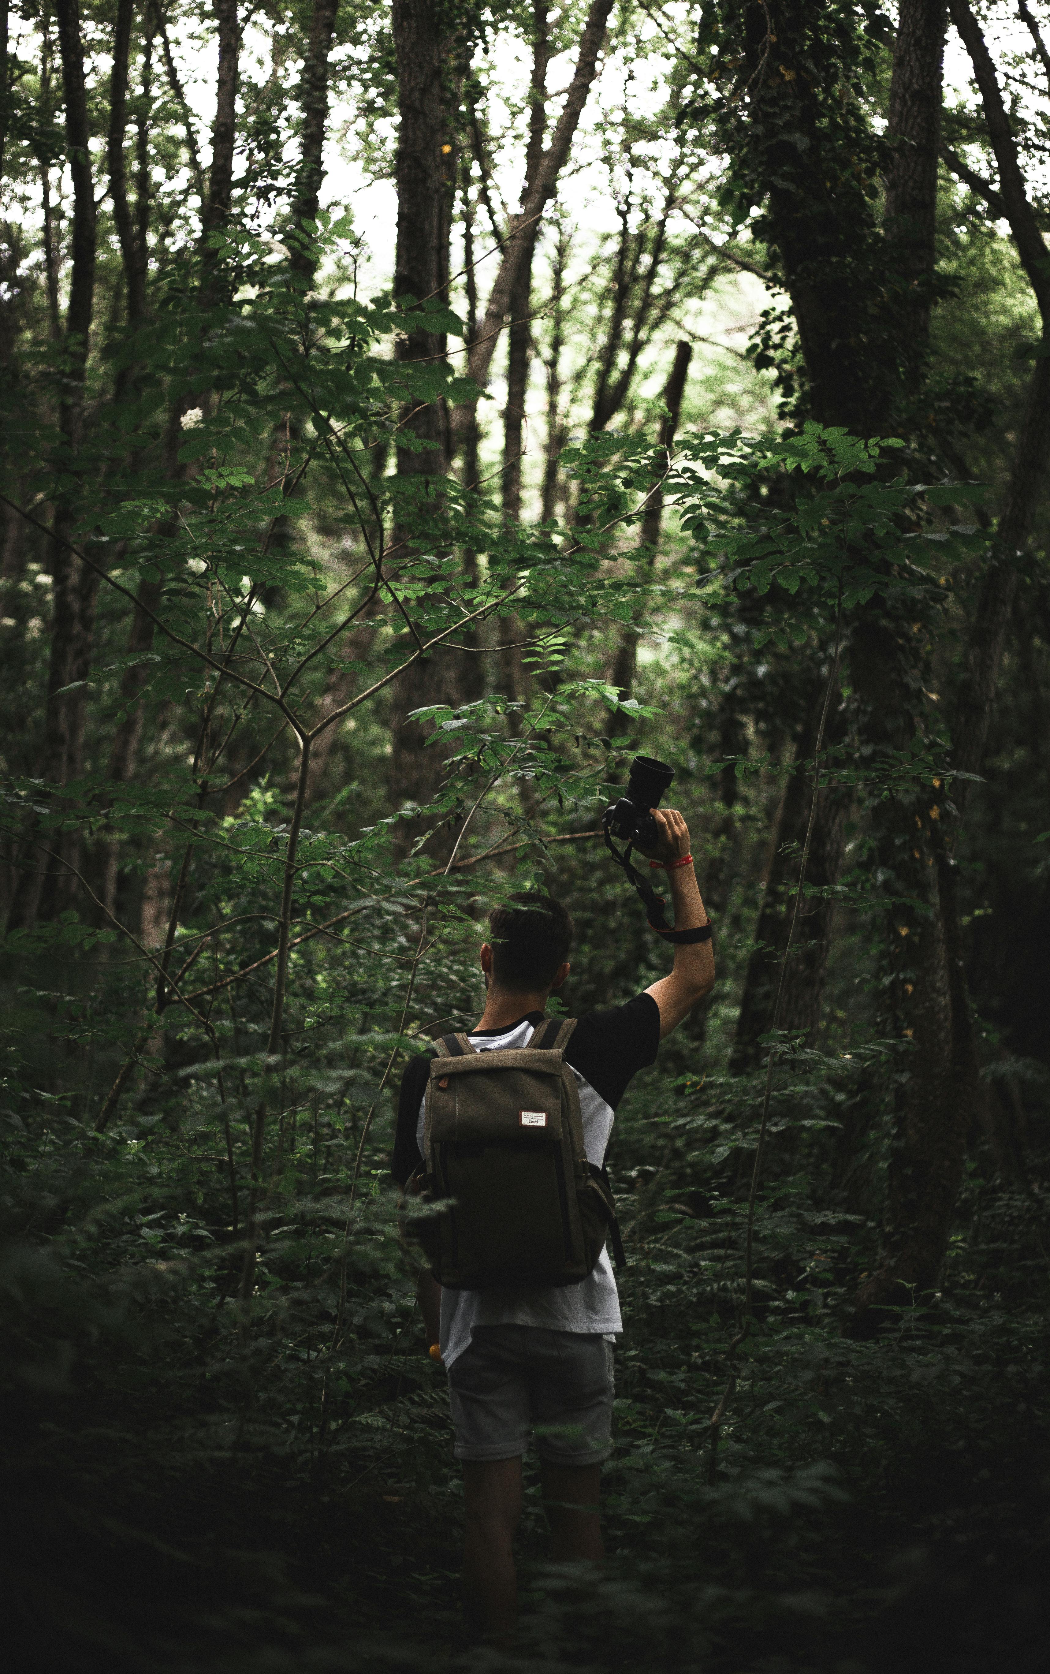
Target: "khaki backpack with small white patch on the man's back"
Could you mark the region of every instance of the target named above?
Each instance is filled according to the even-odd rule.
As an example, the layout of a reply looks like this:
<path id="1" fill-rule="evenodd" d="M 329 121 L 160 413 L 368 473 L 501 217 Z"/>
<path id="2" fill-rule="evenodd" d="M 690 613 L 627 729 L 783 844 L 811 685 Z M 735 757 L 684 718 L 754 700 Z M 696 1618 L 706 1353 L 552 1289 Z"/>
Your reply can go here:
<path id="1" fill-rule="evenodd" d="M 544 1018 L 528 1046 L 477 1051 L 435 1041 L 425 1163 L 405 1187 L 434 1205 L 405 1214 L 449 1291 L 579 1284 L 611 1235 L 623 1245 L 605 1168 L 588 1162 L 576 1076 L 564 1061 L 574 1018 Z M 422 1205 L 420 1205 L 422 1207 Z"/>

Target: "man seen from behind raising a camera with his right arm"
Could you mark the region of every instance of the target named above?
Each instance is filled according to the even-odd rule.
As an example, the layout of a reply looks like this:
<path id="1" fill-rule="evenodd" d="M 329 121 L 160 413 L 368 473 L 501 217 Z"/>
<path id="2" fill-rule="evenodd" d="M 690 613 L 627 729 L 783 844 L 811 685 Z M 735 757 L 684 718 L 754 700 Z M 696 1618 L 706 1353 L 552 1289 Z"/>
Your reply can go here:
<path id="1" fill-rule="evenodd" d="M 658 840 L 645 854 L 667 869 L 675 931 L 707 924 L 693 872 L 688 827 L 675 809 L 653 810 Z M 526 1046 L 546 1003 L 569 974 L 573 921 L 539 897 L 491 914 L 492 942 L 481 949 L 486 1009 L 471 1031 L 479 1051 Z M 710 993 L 710 936 L 675 946 L 670 976 L 625 1006 L 579 1018 L 566 1046 L 583 1115 L 588 1160 L 601 1165 L 623 1091 L 651 1065 L 665 1035 Z M 394 1177 L 419 1167 L 430 1060 L 405 1070 L 397 1113 Z M 521 1460 L 531 1425 L 558 1560 L 601 1560 L 601 1463 L 613 1451 L 613 1349 L 620 1319 L 608 1249 L 594 1271 L 564 1287 L 444 1291 L 420 1274 L 427 1341 L 440 1343 L 449 1373 L 456 1456 L 464 1466 L 467 1610 L 489 1634 L 506 1634 L 517 1612 L 514 1530 L 521 1513 Z"/>

